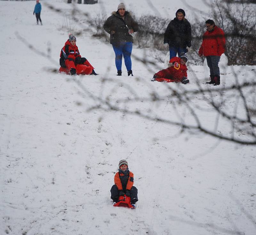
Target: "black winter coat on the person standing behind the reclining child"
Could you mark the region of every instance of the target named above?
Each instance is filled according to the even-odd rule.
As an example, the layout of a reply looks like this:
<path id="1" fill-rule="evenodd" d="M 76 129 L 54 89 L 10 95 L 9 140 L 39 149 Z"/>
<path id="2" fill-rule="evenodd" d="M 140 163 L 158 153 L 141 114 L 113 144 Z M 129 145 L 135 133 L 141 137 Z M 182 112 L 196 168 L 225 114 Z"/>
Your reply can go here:
<path id="1" fill-rule="evenodd" d="M 170 46 L 186 48 L 191 46 L 191 25 L 187 19 L 174 18 L 164 33 L 164 43 Z"/>

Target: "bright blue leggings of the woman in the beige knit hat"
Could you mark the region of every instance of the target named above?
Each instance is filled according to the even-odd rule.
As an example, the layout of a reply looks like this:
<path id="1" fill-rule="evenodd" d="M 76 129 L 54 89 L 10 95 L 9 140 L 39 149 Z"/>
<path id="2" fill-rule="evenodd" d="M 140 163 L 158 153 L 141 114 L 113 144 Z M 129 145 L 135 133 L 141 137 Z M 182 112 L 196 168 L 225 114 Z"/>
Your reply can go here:
<path id="1" fill-rule="evenodd" d="M 116 54 L 116 69 L 117 71 L 122 70 L 122 58 L 124 55 L 124 64 L 127 71 L 132 69 L 132 42 L 119 42 L 112 44 Z"/>

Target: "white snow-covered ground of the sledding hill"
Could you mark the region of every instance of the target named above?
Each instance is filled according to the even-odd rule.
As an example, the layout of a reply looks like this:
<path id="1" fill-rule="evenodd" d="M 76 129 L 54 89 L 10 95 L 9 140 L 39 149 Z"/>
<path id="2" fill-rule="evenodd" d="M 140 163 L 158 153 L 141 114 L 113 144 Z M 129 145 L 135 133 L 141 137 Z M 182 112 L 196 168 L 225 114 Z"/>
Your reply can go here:
<path id="1" fill-rule="evenodd" d="M 42 1 L 44 25 L 37 26 L 32 14 L 35 1 L 0 1 L 0 234 L 255 235 L 255 146 L 200 133 L 180 134 L 180 127 L 118 111 L 87 111 L 100 103 L 95 97 L 149 98 L 153 91 L 167 93 L 176 84 L 150 82 L 152 73 L 135 59 L 134 77 L 125 73 L 116 77 L 112 47 L 89 33 L 78 36 L 77 45 L 100 75 L 72 80 L 51 73 L 49 68 L 59 68 L 60 50 L 68 35 L 61 30 L 64 17 L 44 6 L 52 2 Z M 104 5 L 79 7 L 97 12 L 104 6 L 110 14 L 119 3 L 99 2 Z M 146 3 L 132 0 L 127 5 L 142 14 Z M 70 9 L 60 0 L 55 4 Z M 170 8 L 172 15 L 180 7 L 186 9 L 180 2 L 154 4 L 166 14 Z M 193 6 L 199 5 L 194 1 Z M 49 46 L 55 62 L 30 50 L 20 37 L 46 54 Z M 144 55 L 136 46 L 133 53 Z M 244 78 L 251 69 L 255 67 L 222 69 L 222 85 L 234 82 L 233 70 Z M 190 67 L 191 83 L 186 89 L 196 89 L 192 70 L 202 84 L 208 76 L 205 66 Z M 126 105 L 174 120 L 179 113 L 189 121 L 187 107 L 178 105 L 174 112 L 171 102 L 169 98 Z M 209 109 L 200 95 L 194 103 Z M 232 99 L 227 103 L 234 106 Z M 214 126 L 214 115 L 213 110 L 199 112 L 209 127 Z M 230 127 L 220 120 L 220 129 L 225 133 Z M 114 208 L 110 200 L 121 159 L 127 159 L 135 176 L 139 191 L 135 210 Z"/>

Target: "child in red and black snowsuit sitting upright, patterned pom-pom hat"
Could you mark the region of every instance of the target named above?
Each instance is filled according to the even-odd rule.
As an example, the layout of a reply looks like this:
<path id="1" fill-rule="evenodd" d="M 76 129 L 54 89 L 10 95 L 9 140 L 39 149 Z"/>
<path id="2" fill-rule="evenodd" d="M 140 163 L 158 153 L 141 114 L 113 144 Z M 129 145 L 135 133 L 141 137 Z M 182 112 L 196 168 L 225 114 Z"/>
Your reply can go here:
<path id="1" fill-rule="evenodd" d="M 72 34 L 69 35 L 65 46 L 60 52 L 60 69 L 59 72 L 67 74 L 90 74 L 98 75 L 95 73 L 94 68 L 87 59 L 81 57 L 78 47 L 76 46 L 76 37 Z"/>

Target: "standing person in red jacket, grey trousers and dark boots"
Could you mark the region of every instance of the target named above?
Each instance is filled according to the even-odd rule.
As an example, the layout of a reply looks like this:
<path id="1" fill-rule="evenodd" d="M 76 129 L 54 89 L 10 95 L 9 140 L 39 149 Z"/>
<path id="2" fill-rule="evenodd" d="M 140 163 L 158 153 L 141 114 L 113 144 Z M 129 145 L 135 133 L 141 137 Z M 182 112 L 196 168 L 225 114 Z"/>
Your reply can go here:
<path id="1" fill-rule="evenodd" d="M 220 56 L 225 51 L 225 35 L 221 28 L 217 27 L 213 20 L 205 21 L 206 32 L 198 51 L 199 56 L 205 56 L 210 68 L 210 82 L 208 84 L 220 85 Z"/>

